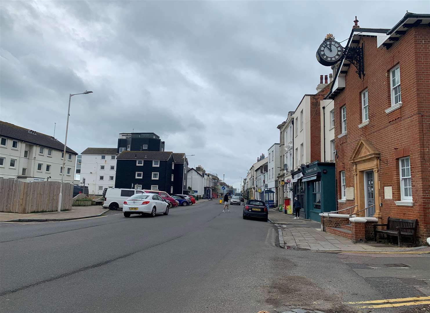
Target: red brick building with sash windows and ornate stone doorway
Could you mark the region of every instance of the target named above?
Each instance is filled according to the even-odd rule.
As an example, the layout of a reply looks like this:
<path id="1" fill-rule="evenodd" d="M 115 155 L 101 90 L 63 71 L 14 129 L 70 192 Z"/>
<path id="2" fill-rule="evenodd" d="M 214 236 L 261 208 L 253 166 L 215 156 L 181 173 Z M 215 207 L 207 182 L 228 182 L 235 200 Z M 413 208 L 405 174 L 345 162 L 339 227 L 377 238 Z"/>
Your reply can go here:
<path id="1" fill-rule="evenodd" d="M 368 208 L 357 216 L 379 223 L 416 218 L 421 242 L 430 236 L 429 23 L 430 14 L 407 13 L 392 29 L 353 27 L 347 47 L 364 49 L 364 76 L 342 60 L 326 96 L 338 209 Z"/>

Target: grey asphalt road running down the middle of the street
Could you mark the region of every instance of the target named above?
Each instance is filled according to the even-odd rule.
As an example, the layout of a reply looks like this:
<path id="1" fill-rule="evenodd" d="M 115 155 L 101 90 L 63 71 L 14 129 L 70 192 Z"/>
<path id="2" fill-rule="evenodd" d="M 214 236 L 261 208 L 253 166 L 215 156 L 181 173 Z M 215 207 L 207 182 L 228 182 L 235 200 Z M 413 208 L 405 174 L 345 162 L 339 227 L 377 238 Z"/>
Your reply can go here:
<path id="1" fill-rule="evenodd" d="M 375 279 L 365 265 L 374 257 L 280 249 L 276 227 L 243 220 L 242 208 L 222 213 L 210 201 L 155 218 L 118 211 L 78 221 L 1 223 L 0 310 L 391 313 L 402 307 L 361 310 L 347 302 L 430 295 L 429 258 L 397 262 L 412 264 L 421 285 L 411 278 L 387 289 L 385 276 Z M 386 264 L 370 262 L 380 263 Z"/>

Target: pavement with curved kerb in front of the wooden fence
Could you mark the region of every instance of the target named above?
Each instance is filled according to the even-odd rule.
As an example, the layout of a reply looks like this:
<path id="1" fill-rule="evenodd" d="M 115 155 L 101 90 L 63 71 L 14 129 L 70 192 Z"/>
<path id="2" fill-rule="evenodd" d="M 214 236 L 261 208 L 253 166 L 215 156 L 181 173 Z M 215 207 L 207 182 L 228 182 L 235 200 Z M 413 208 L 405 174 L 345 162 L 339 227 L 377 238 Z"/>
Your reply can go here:
<path id="1" fill-rule="evenodd" d="M 71 211 L 18 214 L 0 212 L 0 222 L 53 222 L 92 218 L 109 209 L 102 206 L 72 206 Z"/>

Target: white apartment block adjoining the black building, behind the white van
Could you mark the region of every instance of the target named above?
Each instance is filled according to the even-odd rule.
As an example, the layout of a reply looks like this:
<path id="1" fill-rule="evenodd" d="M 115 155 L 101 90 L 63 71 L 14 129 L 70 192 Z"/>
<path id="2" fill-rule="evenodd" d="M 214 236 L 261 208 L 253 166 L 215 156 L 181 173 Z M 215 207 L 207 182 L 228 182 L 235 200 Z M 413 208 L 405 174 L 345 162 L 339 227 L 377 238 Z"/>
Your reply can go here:
<path id="1" fill-rule="evenodd" d="M 101 195 L 115 187 L 117 148 L 86 148 L 82 153 L 80 183 L 85 178 L 89 194 Z"/>

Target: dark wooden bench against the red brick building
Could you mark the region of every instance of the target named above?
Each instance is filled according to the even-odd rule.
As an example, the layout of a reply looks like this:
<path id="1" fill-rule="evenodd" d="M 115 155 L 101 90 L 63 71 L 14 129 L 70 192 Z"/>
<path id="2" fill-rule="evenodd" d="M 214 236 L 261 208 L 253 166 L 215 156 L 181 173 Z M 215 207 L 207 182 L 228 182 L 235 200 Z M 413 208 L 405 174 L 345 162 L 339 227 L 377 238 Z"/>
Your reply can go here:
<path id="1" fill-rule="evenodd" d="M 389 236 L 396 236 L 399 238 L 399 246 L 402 242 L 402 236 L 412 237 L 412 242 L 415 244 L 415 239 L 417 236 L 417 224 L 418 220 L 404 220 L 401 218 L 388 218 L 387 224 L 374 224 L 373 225 L 373 234 L 375 236 L 375 241 L 378 242 L 378 233 L 384 233 Z M 379 230 L 376 229 L 378 226 L 385 226 L 386 229 Z"/>

